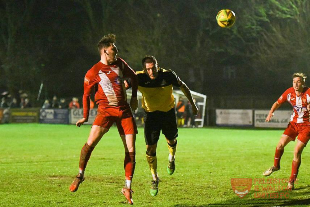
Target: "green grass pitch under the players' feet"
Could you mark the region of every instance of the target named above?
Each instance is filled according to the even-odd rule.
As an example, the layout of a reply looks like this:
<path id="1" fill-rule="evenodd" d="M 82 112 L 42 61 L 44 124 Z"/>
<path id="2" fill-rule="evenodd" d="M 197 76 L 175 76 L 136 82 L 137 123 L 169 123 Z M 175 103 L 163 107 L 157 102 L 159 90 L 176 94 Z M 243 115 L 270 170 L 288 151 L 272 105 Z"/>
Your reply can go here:
<path id="1" fill-rule="evenodd" d="M 90 126 L 0 125 L 0 206 L 127 206 L 120 193 L 124 184 L 124 150 L 112 127 L 96 146 L 86 179 L 69 191 L 78 173 L 79 154 Z M 289 199 L 256 199 L 254 182 L 243 199 L 232 191 L 231 178 L 263 178 L 273 164 L 283 130 L 180 128 L 176 170 L 166 172 L 168 149 L 161 135 L 157 147 L 162 180 L 156 197 L 149 195 L 151 174 L 145 158 L 143 128 L 136 141 L 133 179 L 135 206 L 304 206 L 310 204 L 308 147 L 303 151 L 296 190 Z M 272 178 L 289 178 L 294 142 L 286 146 L 281 170 Z"/>

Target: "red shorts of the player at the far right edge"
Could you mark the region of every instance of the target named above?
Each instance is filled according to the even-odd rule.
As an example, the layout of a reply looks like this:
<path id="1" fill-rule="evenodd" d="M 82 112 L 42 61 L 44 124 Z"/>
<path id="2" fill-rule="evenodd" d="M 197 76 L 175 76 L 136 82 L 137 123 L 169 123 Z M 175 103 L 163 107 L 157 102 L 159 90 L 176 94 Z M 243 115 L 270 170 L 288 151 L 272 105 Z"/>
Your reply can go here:
<path id="1" fill-rule="evenodd" d="M 283 134 L 291 137 L 293 141 L 298 136 L 297 139 L 306 146 L 310 139 L 310 125 L 290 122 Z"/>

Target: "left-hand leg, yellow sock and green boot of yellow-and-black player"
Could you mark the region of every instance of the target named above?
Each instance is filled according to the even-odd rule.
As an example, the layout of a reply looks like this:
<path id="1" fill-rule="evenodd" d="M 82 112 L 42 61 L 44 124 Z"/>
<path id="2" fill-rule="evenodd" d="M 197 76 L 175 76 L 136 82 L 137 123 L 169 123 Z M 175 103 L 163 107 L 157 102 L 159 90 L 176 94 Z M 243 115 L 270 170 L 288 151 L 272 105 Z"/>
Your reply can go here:
<path id="1" fill-rule="evenodd" d="M 158 193 L 159 177 L 157 175 L 156 149 L 157 149 L 157 143 L 146 146 L 146 160 L 148 161 L 148 166 L 150 167 L 153 177 L 150 189 L 151 196 L 156 196 Z"/>

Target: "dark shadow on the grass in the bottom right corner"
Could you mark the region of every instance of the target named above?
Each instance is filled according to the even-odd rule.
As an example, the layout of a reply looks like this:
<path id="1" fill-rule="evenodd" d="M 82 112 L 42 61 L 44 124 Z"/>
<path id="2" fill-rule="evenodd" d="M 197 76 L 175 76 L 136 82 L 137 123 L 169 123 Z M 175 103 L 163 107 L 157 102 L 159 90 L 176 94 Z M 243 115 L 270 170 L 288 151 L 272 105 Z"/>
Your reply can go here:
<path id="1" fill-rule="evenodd" d="M 307 190 L 305 190 L 307 189 Z M 301 191 L 302 190 L 302 191 Z M 278 191 L 278 192 L 283 192 L 283 191 Z M 250 191 L 250 193 L 246 196 L 244 199 L 240 199 L 237 196 L 224 200 L 221 202 L 217 203 L 209 203 L 205 205 L 197 205 L 201 207 L 220 207 L 220 206 L 225 206 L 225 207 L 230 207 L 230 206 L 250 206 L 250 207 L 259 207 L 259 206 L 294 206 L 294 205 L 310 205 L 310 198 L 306 199 L 297 199 L 297 197 L 303 196 L 303 197 L 308 197 L 310 193 L 310 185 L 304 186 L 304 187 L 299 187 L 294 191 L 289 191 L 290 192 L 290 197 L 287 199 L 270 199 L 270 198 L 254 198 L 254 191 Z M 296 197 L 296 199 L 294 199 Z M 189 207 L 189 206 L 195 206 L 195 205 L 174 205 L 175 207 Z"/>

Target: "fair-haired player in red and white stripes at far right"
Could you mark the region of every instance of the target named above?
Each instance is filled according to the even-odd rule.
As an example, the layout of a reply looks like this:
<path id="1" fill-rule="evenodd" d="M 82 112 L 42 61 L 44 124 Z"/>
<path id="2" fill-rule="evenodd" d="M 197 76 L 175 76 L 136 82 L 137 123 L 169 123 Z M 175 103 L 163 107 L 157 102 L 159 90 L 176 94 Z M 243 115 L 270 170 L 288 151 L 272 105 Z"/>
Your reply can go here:
<path id="1" fill-rule="evenodd" d="M 282 134 L 276 147 L 273 166 L 263 173 L 264 176 L 269 176 L 274 171 L 280 169 L 280 160 L 284 152 L 284 147 L 290 141 L 295 141 L 298 136 L 294 150 L 294 159 L 292 162 L 292 171 L 288 182 L 288 189 L 294 189 L 294 182 L 297 178 L 299 166 L 301 164 L 301 153 L 310 139 L 310 120 L 308 111 L 308 105 L 310 103 L 310 88 L 304 87 L 307 76 L 303 73 L 294 73 L 292 78 L 293 87 L 287 89 L 272 105 L 266 118 L 266 122 L 269 122 L 273 116 L 273 112 L 285 102 L 289 102 L 293 107 L 293 114 L 291 115 L 290 123 L 287 125 L 287 128 Z"/>

